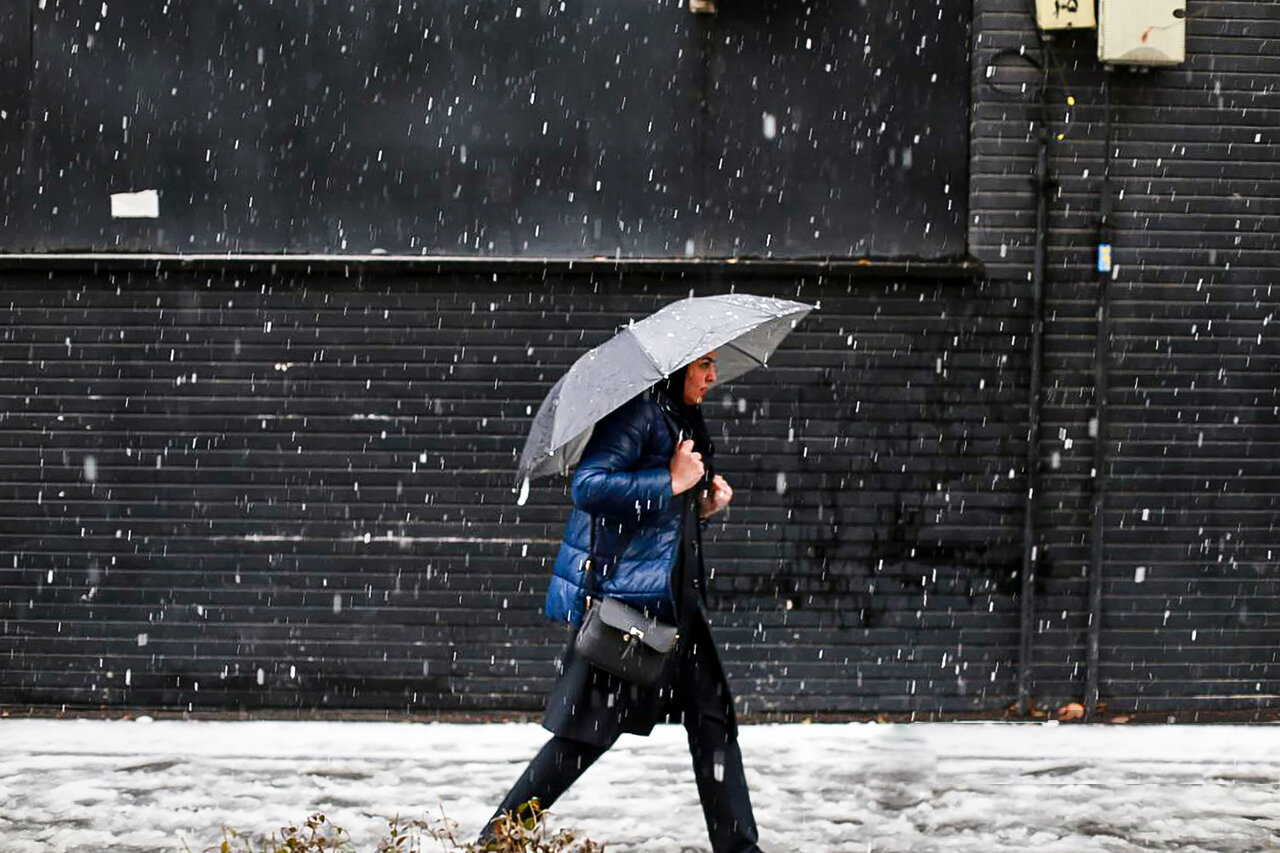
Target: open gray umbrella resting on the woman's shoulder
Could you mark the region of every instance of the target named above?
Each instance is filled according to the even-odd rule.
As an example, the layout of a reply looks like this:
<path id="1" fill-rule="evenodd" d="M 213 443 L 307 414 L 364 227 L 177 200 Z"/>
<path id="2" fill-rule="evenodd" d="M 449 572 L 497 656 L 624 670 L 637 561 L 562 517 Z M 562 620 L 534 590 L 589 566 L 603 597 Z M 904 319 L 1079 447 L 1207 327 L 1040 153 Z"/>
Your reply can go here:
<path id="1" fill-rule="evenodd" d="M 516 482 L 567 474 L 596 421 L 701 355 L 718 350 L 717 382 L 764 365 L 814 306 L 727 293 L 680 300 L 650 314 L 573 362 L 538 409 Z M 522 496 L 524 497 L 524 493 Z"/>

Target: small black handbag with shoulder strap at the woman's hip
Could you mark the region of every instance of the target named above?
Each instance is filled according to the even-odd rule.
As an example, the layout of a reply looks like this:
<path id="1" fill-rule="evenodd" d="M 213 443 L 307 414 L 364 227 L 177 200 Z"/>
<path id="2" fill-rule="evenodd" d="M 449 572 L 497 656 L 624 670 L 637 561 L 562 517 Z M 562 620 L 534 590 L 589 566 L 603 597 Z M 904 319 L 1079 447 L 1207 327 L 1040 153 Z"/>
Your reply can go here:
<path id="1" fill-rule="evenodd" d="M 573 651 L 586 662 L 625 681 L 649 686 L 676 648 L 680 633 L 644 611 L 617 598 L 593 597 L 591 566 L 595 551 L 595 519 L 591 544 L 582 570 L 586 573 L 586 613 L 573 639 Z"/>

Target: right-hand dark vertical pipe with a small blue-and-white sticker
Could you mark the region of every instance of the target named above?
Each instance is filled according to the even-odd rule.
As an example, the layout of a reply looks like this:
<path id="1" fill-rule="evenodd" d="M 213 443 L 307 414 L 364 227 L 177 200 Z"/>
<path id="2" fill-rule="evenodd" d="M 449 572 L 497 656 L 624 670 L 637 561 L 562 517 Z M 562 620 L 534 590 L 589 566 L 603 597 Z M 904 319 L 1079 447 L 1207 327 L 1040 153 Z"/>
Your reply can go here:
<path id="1" fill-rule="evenodd" d="M 1111 361 L 1111 81 L 1110 70 L 1103 72 L 1102 102 L 1106 109 L 1103 122 L 1102 188 L 1098 199 L 1098 332 L 1093 359 L 1093 501 L 1089 529 L 1089 639 L 1088 671 L 1084 686 L 1085 719 L 1098 712 L 1098 661 L 1102 634 L 1102 565 L 1103 515 L 1107 494 L 1107 389 L 1110 388 Z"/>

